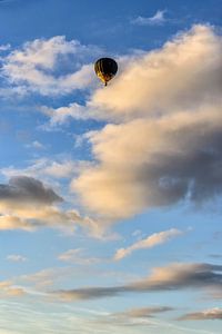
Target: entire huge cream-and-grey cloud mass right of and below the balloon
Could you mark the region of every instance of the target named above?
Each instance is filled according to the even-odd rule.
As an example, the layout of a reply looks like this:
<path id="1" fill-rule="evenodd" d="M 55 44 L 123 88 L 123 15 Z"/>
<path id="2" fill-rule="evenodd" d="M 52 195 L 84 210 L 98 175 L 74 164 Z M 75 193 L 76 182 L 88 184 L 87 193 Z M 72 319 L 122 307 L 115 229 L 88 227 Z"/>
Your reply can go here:
<path id="1" fill-rule="evenodd" d="M 222 38 L 195 26 L 133 59 L 87 107 L 113 120 L 88 135 L 95 166 L 71 188 L 108 220 L 222 193 Z"/>

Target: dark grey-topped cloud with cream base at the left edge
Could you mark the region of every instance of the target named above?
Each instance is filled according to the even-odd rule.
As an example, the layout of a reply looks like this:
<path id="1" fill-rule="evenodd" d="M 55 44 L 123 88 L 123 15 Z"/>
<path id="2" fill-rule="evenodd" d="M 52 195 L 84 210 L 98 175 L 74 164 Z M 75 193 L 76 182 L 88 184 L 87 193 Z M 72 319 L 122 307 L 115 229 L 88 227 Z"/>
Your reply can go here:
<path id="1" fill-rule="evenodd" d="M 34 230 L 38 227 L 73 229 L 83 219 L 75 210 L 62 210 L 56 204 L 63 199 L 42 181 L 28 176 L 14 176 L 0 185 L 0 230 Z"/>

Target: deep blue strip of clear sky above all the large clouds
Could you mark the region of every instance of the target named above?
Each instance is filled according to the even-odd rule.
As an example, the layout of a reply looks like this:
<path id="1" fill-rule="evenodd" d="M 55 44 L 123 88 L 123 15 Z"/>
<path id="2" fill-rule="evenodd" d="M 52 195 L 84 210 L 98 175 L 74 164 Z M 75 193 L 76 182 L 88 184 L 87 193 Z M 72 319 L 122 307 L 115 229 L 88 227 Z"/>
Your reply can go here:
<path id="1" fill-rule="evenodd" d="M 71 0 L 14 0 L 4 1 L 0 10 L 2 42 L 20 45 L 24 40 L 65 35 L 83 43 L 104 46 L 109 52 L 122 52 L 128 48 L 152 48 L 169 35 L 192 22 L 220 23 L 220 0 L 205 1 L 71 1 Z M 167 18 L 174 24 L 164 29 L 130 27 L 129 21 L 152 17 L 158 10 L 167 10 Z"/>

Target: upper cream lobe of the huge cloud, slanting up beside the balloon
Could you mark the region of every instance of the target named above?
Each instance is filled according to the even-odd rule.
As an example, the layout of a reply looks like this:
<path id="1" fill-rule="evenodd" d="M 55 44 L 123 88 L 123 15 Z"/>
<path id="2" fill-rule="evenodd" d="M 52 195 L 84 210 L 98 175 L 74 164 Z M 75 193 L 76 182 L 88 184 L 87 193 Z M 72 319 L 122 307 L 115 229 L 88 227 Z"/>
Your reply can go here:
<path id="1" fill-rule="evenodd" d="M 221 36 L 211 27 L 194 26 L 161 49 L 125 60 L 109 89 L 95 90 L 89 105 L 115 120 L 196 114 L 221 102 Z"/>

